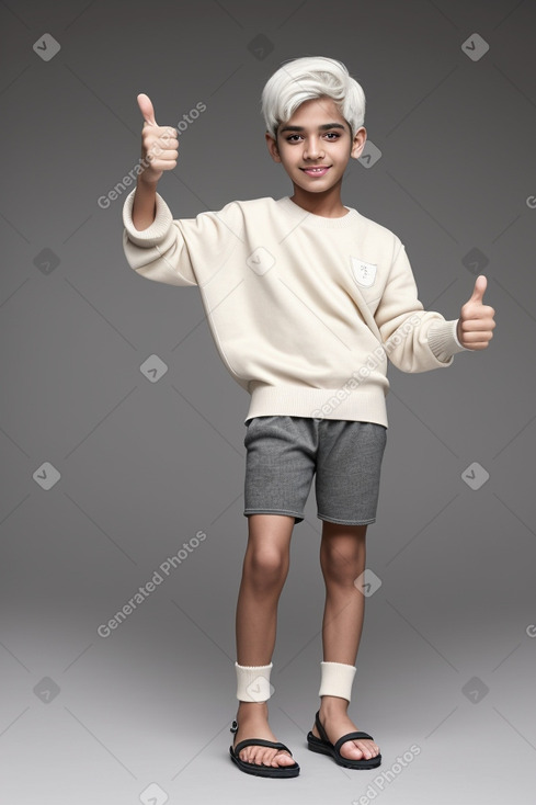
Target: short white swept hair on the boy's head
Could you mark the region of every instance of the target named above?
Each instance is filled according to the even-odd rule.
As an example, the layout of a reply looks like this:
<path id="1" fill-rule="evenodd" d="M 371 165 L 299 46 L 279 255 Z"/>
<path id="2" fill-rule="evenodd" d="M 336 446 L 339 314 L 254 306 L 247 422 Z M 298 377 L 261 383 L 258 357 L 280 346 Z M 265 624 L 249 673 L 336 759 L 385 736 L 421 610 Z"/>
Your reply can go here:
<path id="1" fill-rule="evenodd" d="M 327 56 L 304 56 L 284 63 L 266 82 L 261 98 L 261 113 L 266 132 L 274 137 L 305 101 L 331 98 L 349 123 L 354 136 L 365 122 L 365 93 L 342 64 Z"/>

